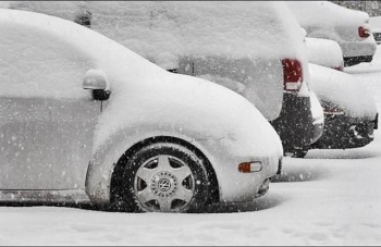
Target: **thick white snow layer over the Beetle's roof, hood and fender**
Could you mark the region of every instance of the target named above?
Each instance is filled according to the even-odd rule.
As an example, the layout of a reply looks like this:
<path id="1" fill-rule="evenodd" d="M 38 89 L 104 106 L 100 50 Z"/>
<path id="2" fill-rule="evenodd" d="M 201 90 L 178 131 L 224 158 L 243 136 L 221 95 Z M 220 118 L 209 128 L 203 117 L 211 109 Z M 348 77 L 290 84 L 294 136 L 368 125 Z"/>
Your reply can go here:
<path id="1" fill-rule="evenodd" d="M 211 141 L 221 139 L 220 144 L 237 156 L 282 152 L 279 136 L 271 125 L 250 102 L 230 89 L 200 78 L 169 73 L 123 46 L 72 22 L 32 12 L 0 10 L 0 23 L 1 33 L 9 34 L 1 36 L 9 38 L 1 39 L 1 44 L 19 44 L 20 40 L 28 44 L 35 41 L 32 34 L 39 34 L 37 37 L 41 46 L 50 47 L 53 40 L 60 40 L 81 51 L 79 54 L 93 65 L 89 69 L 106 74 L 112 95 L 99 116 L 94 151 L 123 129 L 144 136 L 146 133 L 139 133 L 144 129 L 142 126 L 149 125 L 160 133 L 184 133 Z M 24 36 L 26 33 L 30 36 Z M 24 53 L 23 59 L 33 58 Z M 54 67 L 62 65 L 65 69 L 61 61 L 57 63 Z M 86 72 L 84 70 L 82 75 Z M 7 71 L 2 73 L 2 78 L 10 76 Z M 54 73 L 44 76 L 49 75 L 52 75 L 49 82 L 57 79 Z M 67 75 L 73 77 L 65 77 L 65 83 L 78 84 L 83 79 L 76 73 Z M 30 96 L 38 94 L 37 89 L 29 89 Z M 260 144 L 258 140 L 261 140 Z"/>

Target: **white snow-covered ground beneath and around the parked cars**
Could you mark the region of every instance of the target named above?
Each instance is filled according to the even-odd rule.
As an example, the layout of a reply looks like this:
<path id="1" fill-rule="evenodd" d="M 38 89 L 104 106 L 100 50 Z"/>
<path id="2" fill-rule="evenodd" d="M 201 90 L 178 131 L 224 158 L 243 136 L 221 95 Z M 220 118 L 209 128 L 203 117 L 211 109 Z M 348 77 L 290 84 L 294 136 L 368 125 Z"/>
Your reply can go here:
<path id="1" fill-rule="evenodd" d="M 374 95 L 379 111 L 380 52 L 346 70 Z M 0 207 L 0 245 L 381 245 L 380 129 L 364 148 L 312 150 L 285 158 L 283 168 L 266 196 L 218 213 Z"/>

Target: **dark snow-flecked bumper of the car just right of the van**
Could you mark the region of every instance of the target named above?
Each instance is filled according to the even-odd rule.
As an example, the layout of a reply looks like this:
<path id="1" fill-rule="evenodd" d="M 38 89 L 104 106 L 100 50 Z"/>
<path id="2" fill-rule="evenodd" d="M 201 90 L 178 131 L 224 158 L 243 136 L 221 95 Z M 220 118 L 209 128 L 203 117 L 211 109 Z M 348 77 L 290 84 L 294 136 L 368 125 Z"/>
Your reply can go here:
<path id="1" fill-rule="evenodd" d="M 312 144 L 312 148 L 347 149 L 359 148 L 374 139 L 376 120 L 361 120 L 345 114 L 325 114 L 323 135 Z"/>

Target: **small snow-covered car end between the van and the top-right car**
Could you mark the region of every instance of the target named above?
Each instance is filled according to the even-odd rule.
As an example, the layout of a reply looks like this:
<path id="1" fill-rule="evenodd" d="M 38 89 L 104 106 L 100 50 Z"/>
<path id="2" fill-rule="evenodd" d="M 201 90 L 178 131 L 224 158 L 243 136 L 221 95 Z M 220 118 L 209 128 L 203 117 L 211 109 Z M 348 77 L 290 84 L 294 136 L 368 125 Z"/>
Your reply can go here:
<path id="1" fill-rule="evenodd" d="M 310 63 L 331 69 L 344 69 L 342 48 L 336 41 L 322 38 L 306 38 L 306 47 Z"/>

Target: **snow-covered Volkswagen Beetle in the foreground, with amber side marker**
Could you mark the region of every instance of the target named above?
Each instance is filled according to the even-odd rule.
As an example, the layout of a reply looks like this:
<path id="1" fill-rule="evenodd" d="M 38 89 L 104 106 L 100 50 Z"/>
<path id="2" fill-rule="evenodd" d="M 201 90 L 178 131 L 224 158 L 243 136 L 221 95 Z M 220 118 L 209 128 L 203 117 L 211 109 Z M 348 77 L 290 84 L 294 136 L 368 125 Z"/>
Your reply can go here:
<path id="1" fill-rule="evenodd" d="M 0 201 L 183 212 L 263 195 L 275 131 L 244 97 L 73 22 L 0 9 Z"/>

